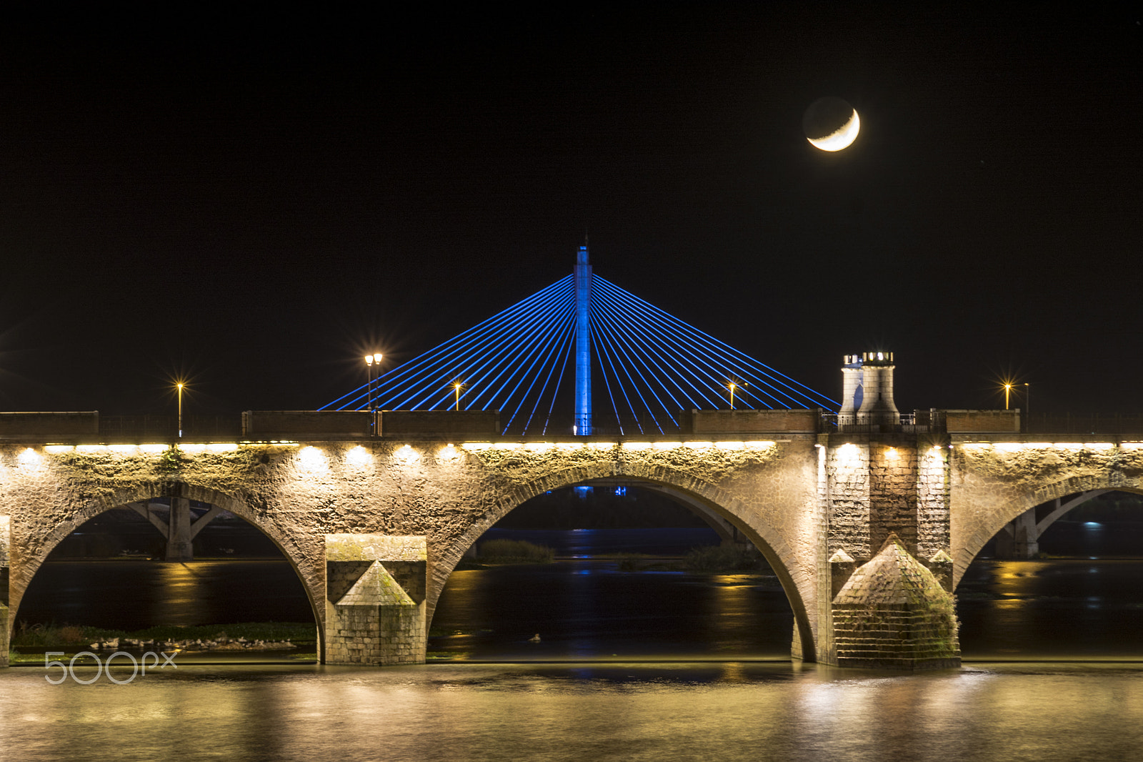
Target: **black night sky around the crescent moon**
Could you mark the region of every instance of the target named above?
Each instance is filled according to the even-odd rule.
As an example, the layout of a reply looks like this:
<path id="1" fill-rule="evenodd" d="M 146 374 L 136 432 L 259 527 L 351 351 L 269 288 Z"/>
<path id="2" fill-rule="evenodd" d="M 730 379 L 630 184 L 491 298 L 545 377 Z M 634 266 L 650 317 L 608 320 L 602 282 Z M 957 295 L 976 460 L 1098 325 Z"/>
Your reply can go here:
<path id="1" fill-rule="evenodd" d="M 956 9 L 952 9 L 956 8 Z M 274 14 L 282 14 L 278 10 Z M 314 408 L 570 272 L 810 387 L 1143 412 L 1143 26 L 1071 3 L 8 19 L 0 408 Z M 861 114 L 840 153 L 801 118 Z M 1016 404 L 1014 402 L 1014 404 Z"/>

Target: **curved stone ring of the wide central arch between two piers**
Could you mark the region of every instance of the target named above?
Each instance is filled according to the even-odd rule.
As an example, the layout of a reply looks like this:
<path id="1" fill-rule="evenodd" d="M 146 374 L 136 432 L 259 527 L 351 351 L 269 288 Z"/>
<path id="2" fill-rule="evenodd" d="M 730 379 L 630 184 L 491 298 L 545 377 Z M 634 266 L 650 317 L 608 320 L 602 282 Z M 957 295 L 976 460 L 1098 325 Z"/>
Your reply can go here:
<path id="1" fill-rule="evenodd" d="M 714 514 L 753 542 L 777 576 L 790 602 L 790 608 L 793 610 L 794 634 L 800 641 L 794 643 L 794 652 L 802 654 L 807 661 L 815 659 L 815 633 L 806 604 L 806 601 L 812 600 L 813 580 L 801 571 L 793 549 L 785 542 L 777 529 L 766 521 L 762 511 L 746 505 L 730 491 L 690 474 L 668 468 L 631 467 L 616 462 L 554 470 L 534 481 L 518 484 L 497 495 L 489 510 L 471 524 L 463 534 L 439 549 L 440 555 L 432 567 L 426 625 L 431 625 L 437 601 L 464 553 L 496 522 L 528 500 L 545 492 L 581 485 L 613 484 L 616 479 L 622 479 L 632 486 L 669 494 L 693 509 Z"/>

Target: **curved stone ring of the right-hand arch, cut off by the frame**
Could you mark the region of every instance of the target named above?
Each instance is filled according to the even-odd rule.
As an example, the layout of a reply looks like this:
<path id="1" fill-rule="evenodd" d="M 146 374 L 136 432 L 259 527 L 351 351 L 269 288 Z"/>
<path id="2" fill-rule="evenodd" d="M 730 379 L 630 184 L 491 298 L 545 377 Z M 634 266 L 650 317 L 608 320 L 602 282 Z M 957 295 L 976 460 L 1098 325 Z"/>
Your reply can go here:
<path id="1" fill-rule="evenodd" d="M 1096 493 L 1103 494 L 1110 491 L 1134 492 L 1143 494 L 1143 483 L 1125 483 L 1120 473 L 1106 471 L 1103 474 L 1085 474 L 1082 476 L 1071 476 L 1047 484 L 1034 485 L 1016 494 L 996 495 L 993 510 L 985 514 L 978 522 L 975 530 L 966 531 L 966 539 L 959 548 L 954 549 L 956 569 L 953 589 L 960 584 L 961 578 L 968 570 L 969 564 L 980 555 L 984 546 L 1008 523 L 1015 521 L 1021 514 L 1036 508 L 1050 500 L 1062 499 L 1070 494 Z M 1077 507 L 1077 506 L 1073 506 Z M 1065 511 L 1050 517 L 1047 524 L 1060 518 Z M 1045 525 L 1046 527 L 1046 525 Z M 967 529 L 967 527 L 966 527 Z"/>

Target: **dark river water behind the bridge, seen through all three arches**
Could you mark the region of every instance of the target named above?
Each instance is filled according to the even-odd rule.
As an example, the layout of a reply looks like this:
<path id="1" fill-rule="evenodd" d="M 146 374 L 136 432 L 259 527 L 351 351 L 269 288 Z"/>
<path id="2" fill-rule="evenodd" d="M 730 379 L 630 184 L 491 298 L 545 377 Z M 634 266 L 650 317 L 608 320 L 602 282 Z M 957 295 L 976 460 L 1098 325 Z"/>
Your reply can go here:
<path id="1" fill-rule="evenodd" d="M 1110 555 L 1141 524 L 1060 522 L 1044 545 Z M 1055 533 L 1053 539 L 1050 533 Z M 677 555 L 709 530 L 512 531 L 567 561 L 457 571 L 440 597 L 430 650 L 478 660 L 774 659 L 792 613 L 774 577 L 638 573 L 589 554 Z M 495 535 L 495 533 L 494 533 Z M 1102 538 L 1102 542 L 1101 542 Z M 1069 545 L 1071 543 L 1071 545 Z M 1143 558 L 978 559 L 957 590 L 966 659 L 1143 659 Z M 162 564 L 51 562 L 17 620 L 138 629 L 158 624 L 312 621 L 285 561 Z M 534 634 L 538 643 L 529 642 Z M 613 656 L 615 654 L 615 656 Z"/>

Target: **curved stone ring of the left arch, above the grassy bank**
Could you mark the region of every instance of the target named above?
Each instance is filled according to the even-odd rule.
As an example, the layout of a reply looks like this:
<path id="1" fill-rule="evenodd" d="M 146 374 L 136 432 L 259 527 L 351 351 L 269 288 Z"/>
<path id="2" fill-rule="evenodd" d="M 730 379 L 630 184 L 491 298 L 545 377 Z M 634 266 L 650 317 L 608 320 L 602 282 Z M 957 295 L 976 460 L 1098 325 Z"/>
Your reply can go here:
<path id="1" fill-rule="evenodd" d="M 130 487 L 112 490 L 97 499 L 83 501 L 74 513 L 59 518 L 49 531 L 35 538 L 33 550 L 19 553 L 18 563 L 14 563 L 10 567 L 9 621 L 16 621 L 21 601 L 32 578 L 64 538 L 103 513 L 155 498 L 186 498 L 218 506 L 250 523 L 270 538 L 302 581 L 318 629 L 318 652 L 319 654 L 325 652 L 325 570 L 315 569 L 307 563 L 306 554 L 299 547 L 297 539 L 283 531 L 269 514 L 251 508 L 246 501 L 226 492 L 185 481 L 143 482 Z M 51 518 L 55 521 L 55 517 Z"/>

